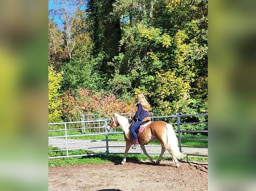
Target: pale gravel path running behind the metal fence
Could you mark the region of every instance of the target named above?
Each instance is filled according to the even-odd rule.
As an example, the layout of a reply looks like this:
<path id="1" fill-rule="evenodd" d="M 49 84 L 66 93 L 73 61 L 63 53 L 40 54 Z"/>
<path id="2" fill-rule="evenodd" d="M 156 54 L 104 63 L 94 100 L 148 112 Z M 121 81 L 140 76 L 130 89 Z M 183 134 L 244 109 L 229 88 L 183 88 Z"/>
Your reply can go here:
<path id="1" fill-rule="evenodd" d="M 82 142 L 81 141 L 89 141 Z M 61 138 L 49 138 L 48 143 L 60 143 L 57 145 L 53 145 L 58 148 L 66 149 L 66 140 Z M 105 152 L 106 151 L 106 141 L 96 141 L 90 142 L 90 140 L 82 140 L 82 139 L 68 139 L 68 148 L 69 149 L 87 149 L 93 150 L 95 152 Z M 123 146 L 123 147 L 111 147 L 111 146 Z M 153 147 L 150 147 L 153 146 Z M 105 148 L 97 148 L 97 147 L 105 147 Z M 160 145 L 145 145 L 148 154 L 160 154 L 161 146 Z M 125 150 L 125 142 L 114 142 L 109 141 L 109 152 L 110 153 L 124 153 Z M 143 153 L 141 149 L 132 149 L 130 148 L 128 153 Z M 207 148 L 187 148 L 182 147 L 182 153 L 197 153 L 197 154 L 208 154 Z M 165 151 L 165 155 L 169 155 L 168 151 Z"/>

